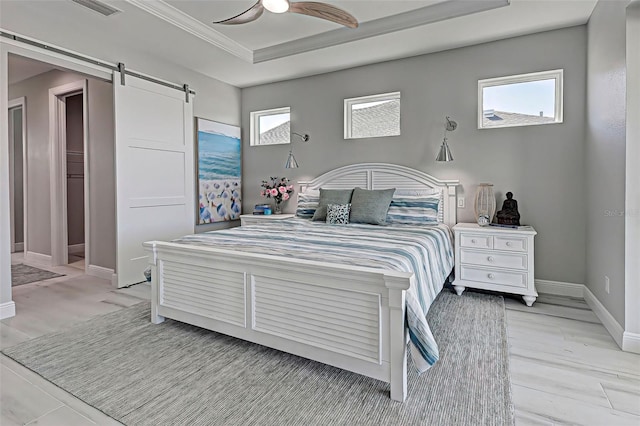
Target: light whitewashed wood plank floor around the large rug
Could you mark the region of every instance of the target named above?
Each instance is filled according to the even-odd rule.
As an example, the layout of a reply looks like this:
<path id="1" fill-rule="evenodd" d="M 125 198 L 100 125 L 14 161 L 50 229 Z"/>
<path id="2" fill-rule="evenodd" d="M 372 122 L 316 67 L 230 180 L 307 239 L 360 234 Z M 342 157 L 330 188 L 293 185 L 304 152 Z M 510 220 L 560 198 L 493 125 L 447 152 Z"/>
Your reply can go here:
<path id="1" fill-rule="evenodd" d="M 74 267 L 48 269 L 66 276 L 13 288 L 1 348 L 149 299 L 146 284 L 116 290 Z M 584 301 L 505 300 L 518 425 L 640 426 L 640 355 L 622 352 Z M 2 426 L 119 424 L 4 355 L 0 380 Z"/>

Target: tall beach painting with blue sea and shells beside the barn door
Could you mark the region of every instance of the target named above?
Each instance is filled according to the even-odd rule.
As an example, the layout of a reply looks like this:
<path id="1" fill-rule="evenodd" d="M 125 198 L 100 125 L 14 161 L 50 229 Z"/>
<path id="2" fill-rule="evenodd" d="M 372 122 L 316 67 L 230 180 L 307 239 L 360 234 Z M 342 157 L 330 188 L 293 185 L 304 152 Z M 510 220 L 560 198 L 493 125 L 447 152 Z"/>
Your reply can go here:
<path id="1" fill-rule="evenodd" d="M 242 214 L 240 127 L 196 118 L 198 224 L 239 220 Z"/>

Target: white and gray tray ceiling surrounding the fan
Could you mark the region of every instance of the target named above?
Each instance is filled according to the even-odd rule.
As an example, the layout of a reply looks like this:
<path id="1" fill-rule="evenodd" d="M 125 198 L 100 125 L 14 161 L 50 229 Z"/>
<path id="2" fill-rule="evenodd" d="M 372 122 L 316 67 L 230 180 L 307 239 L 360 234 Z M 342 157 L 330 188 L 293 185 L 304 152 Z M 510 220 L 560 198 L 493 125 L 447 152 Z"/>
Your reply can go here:
<path id="1" fill-rule="evenodd" d="M 597 2 L 328 0 L 360 21 L 352 30 L 293 13 L 211 23 L 255 0 L 102 1 L 121 12 L 105 17 L 71 0 L 0 0 L 0 27 L 133 69 L 143 59 L 169 62 L 247 87 L 580 25 Z"/>

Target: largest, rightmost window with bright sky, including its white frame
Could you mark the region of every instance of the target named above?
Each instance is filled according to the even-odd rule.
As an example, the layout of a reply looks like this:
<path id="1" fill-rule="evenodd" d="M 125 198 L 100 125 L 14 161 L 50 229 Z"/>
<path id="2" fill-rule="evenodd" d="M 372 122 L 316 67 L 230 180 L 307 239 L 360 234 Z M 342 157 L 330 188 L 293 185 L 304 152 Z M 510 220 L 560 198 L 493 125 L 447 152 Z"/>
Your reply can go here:
<path id="1" fill-rule="evenodd" d="M 478 81 L 478 129 L 562 123 L 563 70 Z"/>

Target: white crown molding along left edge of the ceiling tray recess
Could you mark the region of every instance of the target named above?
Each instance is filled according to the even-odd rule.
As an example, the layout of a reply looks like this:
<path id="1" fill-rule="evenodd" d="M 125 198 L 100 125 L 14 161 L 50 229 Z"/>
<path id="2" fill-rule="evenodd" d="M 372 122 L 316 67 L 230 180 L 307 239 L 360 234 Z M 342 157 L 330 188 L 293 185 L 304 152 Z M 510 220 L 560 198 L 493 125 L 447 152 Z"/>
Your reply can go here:
<path id="1" fill-rule="evenodd" d="M 240 43 L 230 39 L 222 33 L 208 27 L 206 24 L 187 15 L 183 11 L 176 9 L 162 0 L 145 1 L 145 0 L 125 0 L 147 13 L 150 13 L 165 22 L 193 34 L 194 36 L 218 47 L 225 52 L 231 53 L 247 62 L 253 62 L 253 51 L 241 45 Z"/>

